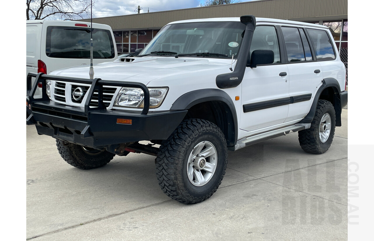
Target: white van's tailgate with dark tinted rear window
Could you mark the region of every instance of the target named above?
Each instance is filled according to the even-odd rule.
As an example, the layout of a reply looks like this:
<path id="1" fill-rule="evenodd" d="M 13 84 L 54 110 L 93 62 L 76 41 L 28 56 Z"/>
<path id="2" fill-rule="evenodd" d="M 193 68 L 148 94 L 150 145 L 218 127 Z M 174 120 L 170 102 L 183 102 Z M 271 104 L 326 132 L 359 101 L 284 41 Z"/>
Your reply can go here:
<path id="1" fill-rule="evenodd" d="M 110 27 L 93 24 L 93 64 L 117 59 Z M 61 68 L 90 64 L 91 27 L 75 21 L 45 21 L 41 42 L 41 60 L 47 74 Z"/>

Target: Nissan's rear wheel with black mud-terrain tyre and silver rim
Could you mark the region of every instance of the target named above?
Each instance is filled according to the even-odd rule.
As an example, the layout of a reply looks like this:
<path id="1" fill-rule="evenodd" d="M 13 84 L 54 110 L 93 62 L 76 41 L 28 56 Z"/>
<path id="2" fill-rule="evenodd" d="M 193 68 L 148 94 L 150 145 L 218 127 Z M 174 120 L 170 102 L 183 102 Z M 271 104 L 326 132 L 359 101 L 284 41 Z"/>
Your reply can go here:
<path id="1" fill-rule="evenodd" d="M 332 103 L 319 100 L 310 128 L 298 133 L 301 148 L 312 154 L 325 153 L 334 138 L 335 123 L 335 109 Z"/>

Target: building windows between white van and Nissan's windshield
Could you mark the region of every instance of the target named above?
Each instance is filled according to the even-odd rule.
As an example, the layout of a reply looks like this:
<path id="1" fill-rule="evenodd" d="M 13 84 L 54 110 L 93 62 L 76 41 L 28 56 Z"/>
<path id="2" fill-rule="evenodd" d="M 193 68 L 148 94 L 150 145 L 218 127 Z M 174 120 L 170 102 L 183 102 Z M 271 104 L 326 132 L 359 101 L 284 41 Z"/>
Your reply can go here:
<path id="1" fill-rule="evenodd" d="M 128 53 L 135 52 L 135 49 L 143 49 L 149 41 L 160 30 L 131 30 L 131 31 L 114 31 L 117 52 Z"/>

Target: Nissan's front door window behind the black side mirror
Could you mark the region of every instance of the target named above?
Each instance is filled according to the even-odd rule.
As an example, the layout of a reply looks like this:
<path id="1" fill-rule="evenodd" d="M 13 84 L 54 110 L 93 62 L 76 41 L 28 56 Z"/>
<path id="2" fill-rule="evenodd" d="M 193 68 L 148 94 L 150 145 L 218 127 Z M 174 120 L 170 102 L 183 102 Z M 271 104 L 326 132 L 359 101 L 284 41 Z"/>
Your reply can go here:
<path id="1" fill-rule="evenodd" d="M 273 50 L 274 63 L 280 63 L 279 43 L 277 33 L 274 26 L 257 26 L 253 33 L 251 48 L 249 49 L 249 56 L 254 50 L 264 49 Z"/>

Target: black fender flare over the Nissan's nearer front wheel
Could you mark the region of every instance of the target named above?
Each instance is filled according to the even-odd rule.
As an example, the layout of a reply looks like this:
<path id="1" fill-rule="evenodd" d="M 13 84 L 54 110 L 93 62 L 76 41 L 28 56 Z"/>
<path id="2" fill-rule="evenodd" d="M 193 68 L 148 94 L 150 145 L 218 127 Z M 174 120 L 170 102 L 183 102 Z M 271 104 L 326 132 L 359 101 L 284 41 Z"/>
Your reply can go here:
<path id="1" fill-rule="evenodd" d="M 235 105 L 230 98 L 230 96 L 224 92 L 223 90 L 219 89 L 201 89 L 201 90 L 193 90 L 191 92 L 187 92 L 184 95 L 181 95 L 171 106 L 170 110 L 186 110 L 190 109 L 192 106 L 197 105 L 202 102 L 209 102 L 209 101 L 221 101 L 226 103 L 229 107 L 229 111 L 231 112 L 232 120 L 229 120 L 229 123 L 232 122 L 231 126 L 229 127 L 228 139 L 231 145 L 235 145 L 237 141 L 237 132 L 238 132 L 238 121 L 236 115 Z M 227 115 L 227 117 L 230 117 Z M 229 124 L 228 123 L 228 124 Z M 231 146 L 230 145 L 230 146 Z"/>

